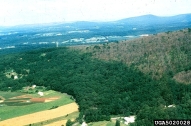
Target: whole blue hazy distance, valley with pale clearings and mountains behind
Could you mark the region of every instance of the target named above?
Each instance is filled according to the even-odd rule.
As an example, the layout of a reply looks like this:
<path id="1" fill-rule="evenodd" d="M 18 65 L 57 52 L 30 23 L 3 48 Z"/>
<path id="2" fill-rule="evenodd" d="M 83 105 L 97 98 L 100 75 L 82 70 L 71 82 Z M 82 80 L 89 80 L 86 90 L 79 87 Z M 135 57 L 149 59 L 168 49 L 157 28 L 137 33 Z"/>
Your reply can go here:
<path id="1" fill-rule="evenodd" d="M 13 50 L 118 42 L 191 28 L 191 14 L 171 17 L 143 15 L 110 22 L 78 21 L 0 27 L 0 53 Z M 22 48 L 22 49 L 21 49 Z"/>

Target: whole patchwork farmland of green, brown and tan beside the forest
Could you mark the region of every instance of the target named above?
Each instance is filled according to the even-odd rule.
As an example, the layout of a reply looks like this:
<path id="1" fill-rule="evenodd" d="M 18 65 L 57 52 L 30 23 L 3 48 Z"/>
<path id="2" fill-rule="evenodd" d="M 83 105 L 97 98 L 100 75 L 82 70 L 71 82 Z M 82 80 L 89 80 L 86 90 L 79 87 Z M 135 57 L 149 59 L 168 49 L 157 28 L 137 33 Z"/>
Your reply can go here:
<path id="1" fill-rule="evenodd" d="M 39 118 L 41 117 L 39 115 L 41 115 L 42 113 L 48 116 L 44 117 L 41 120 L 37 119 L 36 123 L 76 112 L 78 111 L 78 106 L 70 97 L 71 96 L 67 94 L 63 94 L 53 90 L 44 91 L 43 96 L 40 96 L 37 93 L 27 94 L 22 92 L 0 91 L 0 125 L 8 124 L 9 121 L 13 123 L 14 121 L 19 119 L 24 121 L 25 116 L 27 117 L 26 120 L 30 121 L 28 118 Z M 55 113 L 55 111 L 57 112 Z M 53 113 L 50 114 L 51 112 Z M 28 117 L 31 114 L 33 116 Z M 33 122 L 35 121 L 26 122 L 24 123 L 24 125 Z M 16 122 L 14 122 L 14 124 L 15 123 Z"/>

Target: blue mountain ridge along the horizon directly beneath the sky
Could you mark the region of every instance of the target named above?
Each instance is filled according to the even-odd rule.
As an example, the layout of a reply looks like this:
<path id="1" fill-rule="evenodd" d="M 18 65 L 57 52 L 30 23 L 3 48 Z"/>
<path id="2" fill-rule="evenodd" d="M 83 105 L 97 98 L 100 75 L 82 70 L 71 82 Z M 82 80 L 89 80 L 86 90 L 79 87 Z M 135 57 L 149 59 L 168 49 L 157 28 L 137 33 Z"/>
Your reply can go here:
<path id="1" fill-rule="evenodd" d="M 137 17 L 130 17 L 116 21 L 108 21 L 108 22 L 92 22 L 92 21 L 76 21 L 71 23 L 64 23 L 64 22 L 54 22 L 54 23 L 47 23 L 47 24 L 28 24 L 28 25 L 18 25 L 12 27 L 3 27 L 0 26 L 0 29 L 18 29 L 18 28 L 31 28 L 35 29 L 38 27 L 56 27 L 56 26 L 77 26 L 79 28 L 90 28 L 95 26 L 102 26 L 105 24 L 126 24 L 126 25 L 157 25 L 157 24 L 173 24 L 173 23 L 191 23 L 191 13 L 190 14 L 180 14 L 176 16 L 155 16 L 155 15 L 142 15 Z"/>

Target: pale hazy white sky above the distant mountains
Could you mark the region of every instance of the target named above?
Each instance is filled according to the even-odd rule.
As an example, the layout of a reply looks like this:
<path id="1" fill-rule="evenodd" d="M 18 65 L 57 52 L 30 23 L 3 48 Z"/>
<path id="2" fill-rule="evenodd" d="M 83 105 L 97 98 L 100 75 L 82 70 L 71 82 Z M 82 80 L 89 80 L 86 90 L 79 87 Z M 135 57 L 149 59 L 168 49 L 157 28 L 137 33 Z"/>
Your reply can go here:
<path id="1" fill-rule="evenodd" d="M 0 0 L 0 26 L 191 13 L 191 0 Z"/>

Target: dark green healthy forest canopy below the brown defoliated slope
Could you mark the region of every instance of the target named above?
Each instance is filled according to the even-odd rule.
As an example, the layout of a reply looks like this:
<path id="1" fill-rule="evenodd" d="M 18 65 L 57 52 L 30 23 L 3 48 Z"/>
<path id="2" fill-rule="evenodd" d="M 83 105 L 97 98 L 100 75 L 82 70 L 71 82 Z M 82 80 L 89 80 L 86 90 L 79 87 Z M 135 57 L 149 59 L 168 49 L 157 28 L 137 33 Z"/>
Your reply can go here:
<path id="1" fill-rule="evenodd" d="M 169 74 L 160 79 L 136 65 L 92 58 L 72 48 L 49 48 L 0 57 L 0 89 L 12 91 L 33 84 L 72 95 L 86 122 L 111 115 L 136 115 L 131 125 L 153 125 L 154 119 L 190 119 L 191 86 Z M 13 71 L 19 79 L 8 78 Z M 11 74 L 11 73 L 10 73 Z M 176 107 L 165 106 L 174 104 Z"/>

